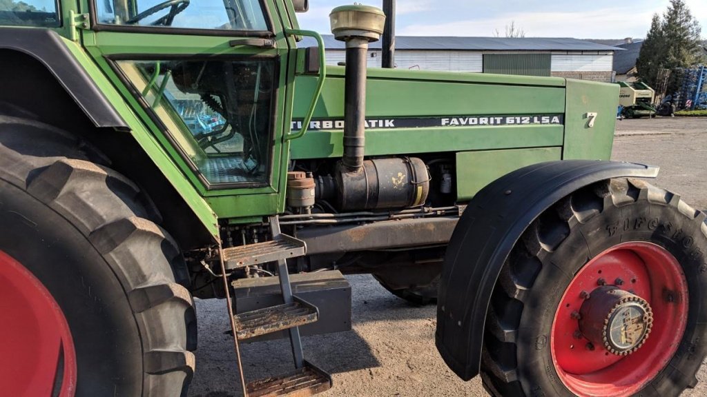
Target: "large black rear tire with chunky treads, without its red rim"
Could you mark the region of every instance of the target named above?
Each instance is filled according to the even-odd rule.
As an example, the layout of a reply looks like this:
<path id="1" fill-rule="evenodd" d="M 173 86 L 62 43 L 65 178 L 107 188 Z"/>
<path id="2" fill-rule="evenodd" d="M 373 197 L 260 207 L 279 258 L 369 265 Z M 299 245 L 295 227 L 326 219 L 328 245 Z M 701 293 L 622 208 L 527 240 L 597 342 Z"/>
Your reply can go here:
<path id="1" fill-rule="evenodd" d="M 76 136 L 0 116 L 0 251 L 64 314 L 77 396 L 185 396 L 197 328 L 184 259 L 107 163 Z"/>

